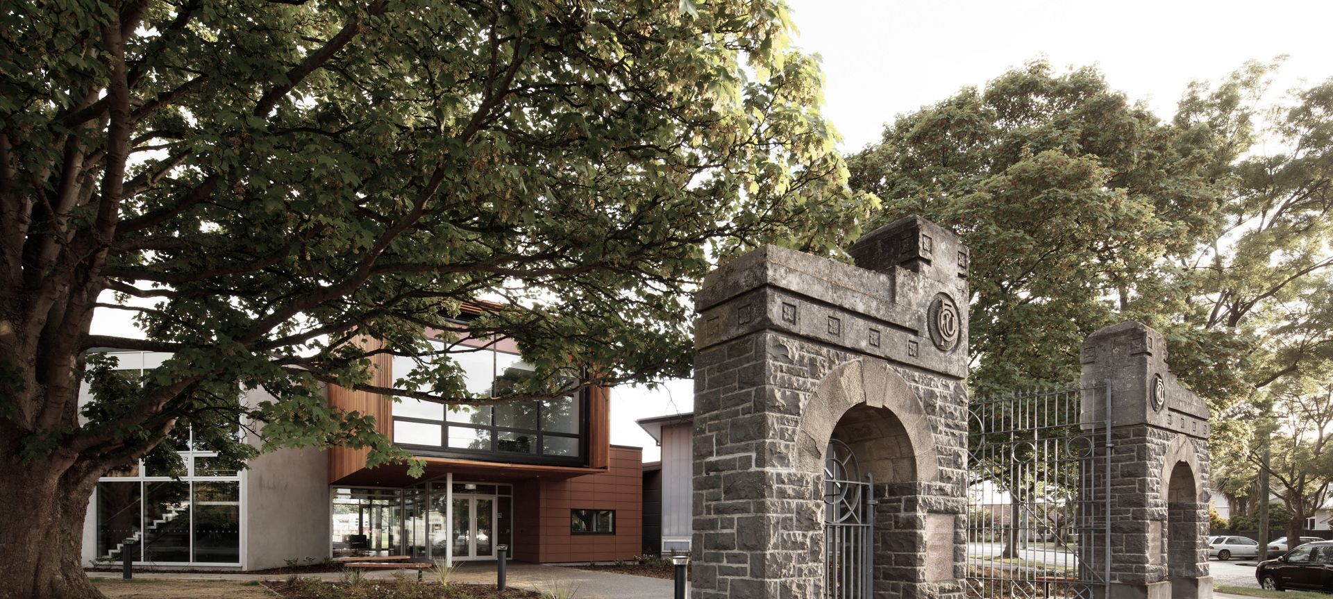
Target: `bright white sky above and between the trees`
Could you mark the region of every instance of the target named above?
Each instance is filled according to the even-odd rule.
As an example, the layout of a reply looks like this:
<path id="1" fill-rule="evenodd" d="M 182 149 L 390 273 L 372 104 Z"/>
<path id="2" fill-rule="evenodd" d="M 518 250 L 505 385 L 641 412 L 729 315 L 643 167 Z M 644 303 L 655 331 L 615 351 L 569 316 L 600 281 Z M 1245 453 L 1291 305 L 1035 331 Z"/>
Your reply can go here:
<path id="1" fill-rule="evenodd" d="M 1246 60 L 1288 55 L 1276 89 L 1333 76 L 1333 1 L 853 1 L 788 0 L 796 45 L 822 57 L 824 116 L 852 152 L 885 123 L 981 87 L 1045 57 L 1057 68 L 1097 65 L 1112 87 L 1161 117 L 1192 80 L 1217 81 Z M 133 335 L 121 315 L 99 314 L 95 334 Z M 612 391 L 615 444 L 659 458 L 635 420 L 693 408 L 693 384 Z"/>

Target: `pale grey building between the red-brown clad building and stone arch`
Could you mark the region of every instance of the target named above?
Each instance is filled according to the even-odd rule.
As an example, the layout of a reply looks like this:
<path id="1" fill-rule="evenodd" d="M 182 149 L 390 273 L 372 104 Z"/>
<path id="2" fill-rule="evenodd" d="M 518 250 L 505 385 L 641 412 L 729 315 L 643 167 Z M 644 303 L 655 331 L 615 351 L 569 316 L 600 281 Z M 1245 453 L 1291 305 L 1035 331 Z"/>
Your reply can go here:
<path id="1" fill-rule="evenodd" d="M 694 414 L 673 414 L 637 422 L 663 450 L 659 479 L 661 491 L 656 498 L 661 518 L 656 527 L 661 535 L 659 554 L 689 554 L 689 542 L 694 535 Z"/>

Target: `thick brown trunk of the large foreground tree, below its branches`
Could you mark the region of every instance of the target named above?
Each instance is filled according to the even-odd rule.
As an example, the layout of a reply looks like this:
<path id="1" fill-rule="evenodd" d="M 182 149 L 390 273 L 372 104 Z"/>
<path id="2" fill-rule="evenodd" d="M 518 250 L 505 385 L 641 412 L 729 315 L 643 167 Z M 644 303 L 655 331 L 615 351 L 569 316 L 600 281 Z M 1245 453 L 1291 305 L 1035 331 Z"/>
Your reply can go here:
<path id="1" fill-rule="evenodd" d="M 64 472 L 60 472 L 64 470 Z M 79 470 L 79 468 L 73 468 Z M 83 571 L 83 528 L 97 475 L 0 459 L 0 599 L 101 599 Z"/>

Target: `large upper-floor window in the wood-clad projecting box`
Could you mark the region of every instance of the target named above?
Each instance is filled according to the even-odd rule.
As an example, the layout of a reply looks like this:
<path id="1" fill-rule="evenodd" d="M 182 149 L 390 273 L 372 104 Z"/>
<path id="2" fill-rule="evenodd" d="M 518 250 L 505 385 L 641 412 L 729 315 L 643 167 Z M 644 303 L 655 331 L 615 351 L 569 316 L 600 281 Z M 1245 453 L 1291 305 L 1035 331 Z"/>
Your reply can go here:
<path id="1" fill-rule="evenodd" d="M 515 354 L 492 350 L 453 355 L 464 371 L 468 391 L 501 396 L 516 382 L 532 376 L 532 367 Z M 404 376 L 415 363 L 393 360 L 393 375 Z M 583 400 L 505 402 L 489 406 L 451 406 L 401 399 L 393 406 L 393 442 L 420 452 L 507 454 L 511 460 L 580 463 L 583 455 Z"/>

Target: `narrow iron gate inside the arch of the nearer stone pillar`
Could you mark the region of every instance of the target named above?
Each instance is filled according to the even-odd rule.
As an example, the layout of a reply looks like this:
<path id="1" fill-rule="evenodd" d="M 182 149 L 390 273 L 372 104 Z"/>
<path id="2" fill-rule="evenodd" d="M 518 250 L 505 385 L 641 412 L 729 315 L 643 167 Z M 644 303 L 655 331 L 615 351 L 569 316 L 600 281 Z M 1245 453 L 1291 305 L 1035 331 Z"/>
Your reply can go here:
<path id="1" fill-rule="evenodd" d="M 829 442 L 824 458 L 824 596 L 869 599 L 874 543 L 874 476 L 861 479 L 856 455 Z"/>

